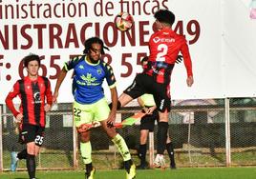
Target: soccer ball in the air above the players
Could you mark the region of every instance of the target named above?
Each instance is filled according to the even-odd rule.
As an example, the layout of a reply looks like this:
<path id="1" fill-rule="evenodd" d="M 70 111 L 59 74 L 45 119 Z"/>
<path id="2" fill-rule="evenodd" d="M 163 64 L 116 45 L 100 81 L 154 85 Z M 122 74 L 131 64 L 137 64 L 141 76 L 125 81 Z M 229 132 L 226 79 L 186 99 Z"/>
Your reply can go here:
<path id="1" fill-rule="evenodd" d="M 126 31 L 130 30 L 134 25 L 133 16 L 125 11 L 119 12 L 115 17 L 115 25 L 117 30 Z"/>

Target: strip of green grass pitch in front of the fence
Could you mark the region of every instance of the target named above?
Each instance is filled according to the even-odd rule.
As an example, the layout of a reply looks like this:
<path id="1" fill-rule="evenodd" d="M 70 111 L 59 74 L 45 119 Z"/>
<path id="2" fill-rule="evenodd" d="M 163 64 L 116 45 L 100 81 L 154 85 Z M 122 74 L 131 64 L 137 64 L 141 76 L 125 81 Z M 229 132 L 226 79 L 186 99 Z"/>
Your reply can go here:
<path id="1" fill-rule="evenodd" d="M 0 173 L 1 179 L 25 179 L 25 171 Z M 84 179 L 81 170 L 37 171 L 38 179 Z M 96 170 L 95 179 L 124 179 L 124 170 Z M 136 179 L 255 179 L 256 168 L 189 168 L 137 170 Z"/>

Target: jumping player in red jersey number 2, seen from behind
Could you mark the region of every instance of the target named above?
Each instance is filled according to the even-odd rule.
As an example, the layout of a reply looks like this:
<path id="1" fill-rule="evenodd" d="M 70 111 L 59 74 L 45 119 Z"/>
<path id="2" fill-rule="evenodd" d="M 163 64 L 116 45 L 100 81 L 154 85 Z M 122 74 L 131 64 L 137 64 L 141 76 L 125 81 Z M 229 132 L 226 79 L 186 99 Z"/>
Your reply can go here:
<path id="1" fill-rule="evenodd" d="M 172 30 L 172 25 L 175 21 L 174 13 L 170 10 L 158 10 L 154 17 L 156 18 L 157 31 L 149 39 L 150 53 L 148 63 L 143 67 L 143 72 L 136 76 L 132 85 L 118 97 L 117 107 L 124 107 L 144 93 L 153 94 L 160 115 L 155 162 L 162 164 L 161 167 L 164 168 L 163 151 L 165 149 L 171 109 L 170 78 L 180 52 L 187 72 L 186 84 L 188 87 L 193 85 L 194 79 L 186 39 L 183 35 L 177 34 Z"/>

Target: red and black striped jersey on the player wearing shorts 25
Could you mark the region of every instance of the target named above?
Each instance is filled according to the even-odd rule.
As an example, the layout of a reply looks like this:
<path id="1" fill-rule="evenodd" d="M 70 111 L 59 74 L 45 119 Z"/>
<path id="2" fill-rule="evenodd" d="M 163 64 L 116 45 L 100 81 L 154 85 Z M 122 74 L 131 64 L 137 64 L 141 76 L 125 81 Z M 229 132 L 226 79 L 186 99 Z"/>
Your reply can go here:
<path id="1" fill-rule="evenodd" d="M 19 96 L 21 105 L 19 111 L 14 108 L 12 99 Z M 16 117 L 23 114 L 23 123 L 45 127 L 45 102 L 53 104 L 53 93 L 48 78 L 38 76 L 31 80 L 28 76 L 16 81 L 6 98 L 6 104 Z"/>

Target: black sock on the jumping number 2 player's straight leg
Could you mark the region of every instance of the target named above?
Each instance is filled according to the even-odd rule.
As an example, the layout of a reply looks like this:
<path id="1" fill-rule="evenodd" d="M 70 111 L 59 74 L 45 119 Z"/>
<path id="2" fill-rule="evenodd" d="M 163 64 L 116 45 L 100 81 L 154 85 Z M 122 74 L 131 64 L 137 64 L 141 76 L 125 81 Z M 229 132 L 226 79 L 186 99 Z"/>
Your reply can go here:
<path id="1" fill-rule="evenodd" d="M 165 149 L 166 139 L 167 139 L 167 130 L 168 130 L 168 123 L 167 122 L 160 122 L 158 125 L 158 154 L 163 154 Z"/>

